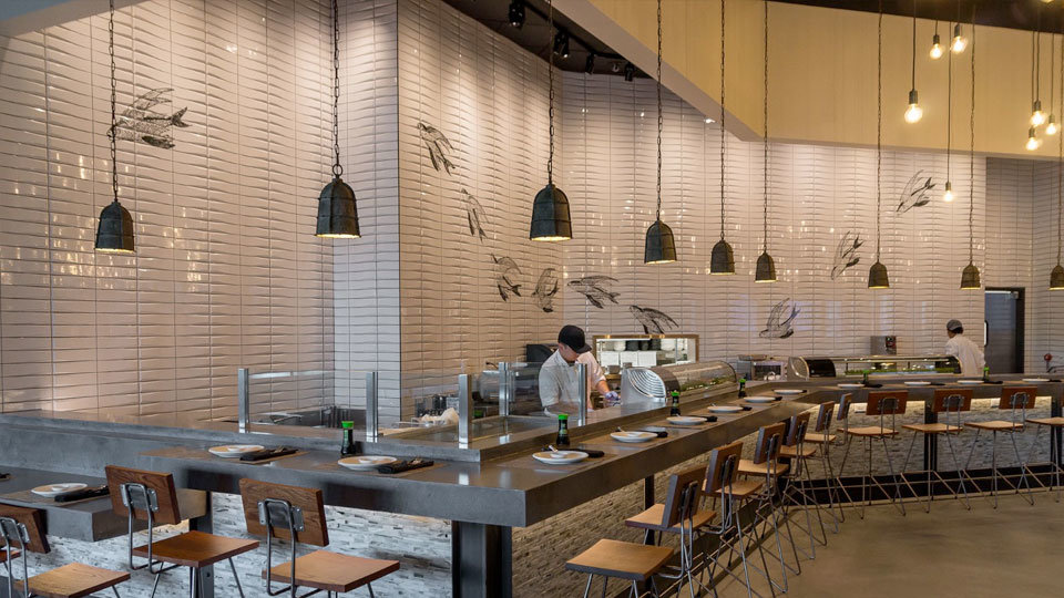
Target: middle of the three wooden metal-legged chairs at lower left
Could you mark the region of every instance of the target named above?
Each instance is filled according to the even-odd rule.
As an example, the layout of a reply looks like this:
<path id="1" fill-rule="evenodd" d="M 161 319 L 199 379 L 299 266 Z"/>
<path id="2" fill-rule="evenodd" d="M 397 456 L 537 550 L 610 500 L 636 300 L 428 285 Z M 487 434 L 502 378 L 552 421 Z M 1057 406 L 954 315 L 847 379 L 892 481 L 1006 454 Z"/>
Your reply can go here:
<path id="1" fill-rule="evenodd" d="M 147 569 L 155 575 L 152 596 L 158 589 L 160 577 L 173 569 L 188 567 L 188 595 L 203 596 L 202 571 L 223 560 L 236 580 L 236 588 L 244 596 L 241 577 L 236 574 L 233 557 L 258 548 L 258 542 L 227 538 L 204 532 L 185 532 L 165 539 L 155 539 L 155 526 L 177 525 L 181 509 L 174 476 L 168 473 L 146 472 L 129 467 L 106 466 L 108 487 L 111 489 L 111 508 L 127 520 L 129 566 L 131 570 Z M 147 544 L 134 547 L 134 522 L 147 523 Z M 146 559 L 134 564 L 134 557 Z"/>

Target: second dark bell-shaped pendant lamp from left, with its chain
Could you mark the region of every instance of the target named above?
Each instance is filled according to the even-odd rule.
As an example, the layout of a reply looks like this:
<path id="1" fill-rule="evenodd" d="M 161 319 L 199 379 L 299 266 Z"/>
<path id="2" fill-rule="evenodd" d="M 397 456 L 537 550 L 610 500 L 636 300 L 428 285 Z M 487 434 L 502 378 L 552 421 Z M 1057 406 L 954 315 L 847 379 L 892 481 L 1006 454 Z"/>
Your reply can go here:
<path id="1" fill-rule="evenodd" d="M 358 207 L 355 189 L 340 177 L 340 10 L 332 0 L 332 181 L 318 196 L 318 221 L 314 235 L 332 239 L 357 239 Z"/>

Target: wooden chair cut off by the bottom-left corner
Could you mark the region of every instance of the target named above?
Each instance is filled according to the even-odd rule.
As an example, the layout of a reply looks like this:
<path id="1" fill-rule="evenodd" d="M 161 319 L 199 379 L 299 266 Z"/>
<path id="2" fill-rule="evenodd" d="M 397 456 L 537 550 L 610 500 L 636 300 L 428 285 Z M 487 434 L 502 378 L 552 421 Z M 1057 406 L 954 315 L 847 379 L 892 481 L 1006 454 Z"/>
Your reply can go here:
<path id="1" fill-rule="evenodd" d="M 44 571 L 34 576 L 29 575 L 27 551 L 30 546 L 39 545 L 39 532 L 30 533 L 24 523 L 13 517 L 0 516 L 0 538 L 3 539 L 0 560 L 7 569 L 8 596 L 42 598 L 84 598 L 98 591 L 110 589 L 115 598 L 120 598 L 115 587 L 130 579 L 125 571 L 112 571 L 91 567 L 81 563 L 71 563 L 62 567 Z M 20 563 L 21 567 L 16 563 Z M 21 568 L 21 578 L 17 578 Z"/>

